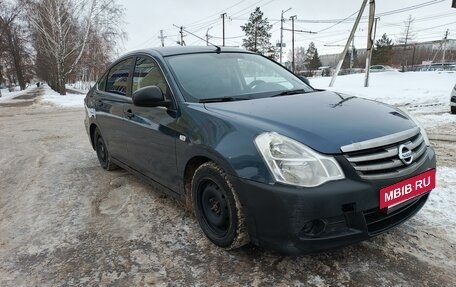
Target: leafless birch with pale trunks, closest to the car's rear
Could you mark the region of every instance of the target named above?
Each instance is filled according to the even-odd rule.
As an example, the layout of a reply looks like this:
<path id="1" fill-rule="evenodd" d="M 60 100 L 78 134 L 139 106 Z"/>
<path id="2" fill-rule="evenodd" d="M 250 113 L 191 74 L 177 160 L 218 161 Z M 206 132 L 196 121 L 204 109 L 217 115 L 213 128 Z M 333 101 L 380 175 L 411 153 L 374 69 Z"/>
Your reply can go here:
<path id="1" fill-rule="evenodd" d="M 38 0 L 33 6 L 29 14 L 37 64 L 50 68 L 44 76 L 54 90 L 65 95 L 67 77 L 78 67 L 89 40 L 106 30 L 113 37 L 122 35 L 116 27 L 123 10 L 114 0 Z"/>

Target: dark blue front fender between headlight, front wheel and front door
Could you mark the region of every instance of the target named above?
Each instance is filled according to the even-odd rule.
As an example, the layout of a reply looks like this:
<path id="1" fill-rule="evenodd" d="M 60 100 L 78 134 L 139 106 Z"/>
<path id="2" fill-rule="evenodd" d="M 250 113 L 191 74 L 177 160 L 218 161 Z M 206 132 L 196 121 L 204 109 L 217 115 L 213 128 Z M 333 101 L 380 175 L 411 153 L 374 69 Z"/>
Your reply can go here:
<path id="1" fill-rule="evenodd" d="M 183 111 L 182 127 L 185 140 L 177 141 L 178 172 L 183 174 L 186 164 L 194 157 L 205 157 L 216 162 L 226 173 L 243 179 L 271 183 L 270 172 L 254 144 L 262 132 L 233 118 L 212 115 L 201 106 Z"/>

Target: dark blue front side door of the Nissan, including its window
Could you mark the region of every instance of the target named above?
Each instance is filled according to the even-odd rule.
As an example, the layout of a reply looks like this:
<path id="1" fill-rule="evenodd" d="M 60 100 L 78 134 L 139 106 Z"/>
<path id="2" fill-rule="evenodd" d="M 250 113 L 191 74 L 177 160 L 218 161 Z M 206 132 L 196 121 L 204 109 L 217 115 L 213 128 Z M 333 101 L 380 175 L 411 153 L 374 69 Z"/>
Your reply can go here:
<path id="1" fill-rule="evenodd" d="M 132 77 L 132 93 L 140 88 L 155 85 L 174 99 L 158 63 L 147 56 L 137 57 Z M 174 106 L 176 106 L 174 104 Z M 177 111 L 166 107 L 137 107 L 125 105 L 128 128 L 128 153 L 132 166 L 153 180 L 176 190 L 176 126 Z"/>

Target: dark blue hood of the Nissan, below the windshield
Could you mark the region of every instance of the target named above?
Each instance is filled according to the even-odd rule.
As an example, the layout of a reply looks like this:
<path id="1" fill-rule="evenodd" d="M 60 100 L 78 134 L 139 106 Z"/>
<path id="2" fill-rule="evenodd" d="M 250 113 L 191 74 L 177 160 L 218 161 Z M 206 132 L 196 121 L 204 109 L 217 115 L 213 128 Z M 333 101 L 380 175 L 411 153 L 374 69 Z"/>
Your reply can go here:
<path id="1" fill-rule="evenodd" d="M 274 131 L 326 154 L 338 154 L 341 146 L 416 127 L 392 106 L 330 91 L 205 107 L 227 120 L 258 129 L 258 133 Z"/>

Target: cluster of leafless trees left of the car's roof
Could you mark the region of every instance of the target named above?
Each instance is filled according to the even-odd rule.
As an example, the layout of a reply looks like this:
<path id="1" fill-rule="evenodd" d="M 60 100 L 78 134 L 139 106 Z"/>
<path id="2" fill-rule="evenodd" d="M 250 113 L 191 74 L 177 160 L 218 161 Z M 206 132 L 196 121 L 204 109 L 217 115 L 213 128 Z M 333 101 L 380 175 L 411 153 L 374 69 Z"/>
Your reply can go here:
<path id="1" fill-rule="evenodd" d="M 36 77 L 65 95 L 68 80 L 98 78 L 125 38 L 123 17 L 115 0 L 0 0 L 0 85 Z"/>

